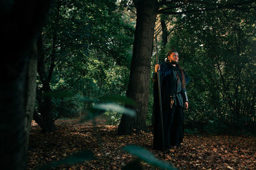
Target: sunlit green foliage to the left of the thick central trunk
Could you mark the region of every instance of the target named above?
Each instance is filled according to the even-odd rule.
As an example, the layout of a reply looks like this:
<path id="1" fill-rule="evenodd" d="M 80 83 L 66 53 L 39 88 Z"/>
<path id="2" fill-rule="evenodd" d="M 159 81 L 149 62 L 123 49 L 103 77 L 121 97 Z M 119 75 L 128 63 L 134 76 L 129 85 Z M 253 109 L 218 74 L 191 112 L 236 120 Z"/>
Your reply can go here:
<path id="1" fill-rule="evenodd" d="M 54 66 L 50 80 L 54 94 L 50 96 L 55 96 L 55 117 L 60 113 L 61 117 L 77 117 L 101 96 L 125 94 L 134 26 L 120 13 L 124 11 L 113 0 L 52 3 L 42 30 L 42 53 L 45 74 Z M 39 79 L 38 89 L 42 89 Z M 69 99 L 61 99 L 69 95 L 65 91 Z"/>

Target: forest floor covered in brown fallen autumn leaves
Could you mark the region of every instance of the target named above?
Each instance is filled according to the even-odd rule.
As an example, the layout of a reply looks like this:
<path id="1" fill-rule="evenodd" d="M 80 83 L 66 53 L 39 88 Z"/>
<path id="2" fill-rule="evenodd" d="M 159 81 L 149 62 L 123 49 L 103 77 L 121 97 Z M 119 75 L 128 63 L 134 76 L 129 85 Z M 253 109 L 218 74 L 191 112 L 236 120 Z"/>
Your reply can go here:
<path id="1" fill-rule="evenodd" d="M 103 121 L 79 123 L 78 119 L 56 120 L 57 131 L 44 134 L 32 122 L 29 136 L 28 169 L 61 160 L 80 150 L 90 150 L 95 159 L 81 164 L 63 164 L 54 169 L 122 169 L 135 159 L 126 145 L 138 145 L 163 160 L 152 149 L 152 132 L 117 136 L 116 125 Z M 166 151 L 164 160 L 178 169 L 256 169 L 256 138 L 252 136 L 209 136 L 186 134 L 180 148 Z M 157 169 L 141 162 L 143 169 Z"/>

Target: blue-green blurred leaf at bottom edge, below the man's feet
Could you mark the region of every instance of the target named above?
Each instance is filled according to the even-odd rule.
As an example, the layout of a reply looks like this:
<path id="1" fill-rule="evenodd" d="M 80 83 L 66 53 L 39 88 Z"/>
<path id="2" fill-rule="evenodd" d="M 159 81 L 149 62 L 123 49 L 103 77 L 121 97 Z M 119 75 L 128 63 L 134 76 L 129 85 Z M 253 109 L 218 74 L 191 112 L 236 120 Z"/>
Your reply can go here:
<path id="1" fill-rule="evenodd" d="M 148 164 L 151 164 L 152 166 L 170 170 L 175 169 L 167 162 L 163 162 L 162 160 L 157 159 L 153 153 L 140 146 L 128 145 L 124 147 L 124 150 L 131 153 L 132 155 L 136 155 L 139 159 L 147 162 Z"/>

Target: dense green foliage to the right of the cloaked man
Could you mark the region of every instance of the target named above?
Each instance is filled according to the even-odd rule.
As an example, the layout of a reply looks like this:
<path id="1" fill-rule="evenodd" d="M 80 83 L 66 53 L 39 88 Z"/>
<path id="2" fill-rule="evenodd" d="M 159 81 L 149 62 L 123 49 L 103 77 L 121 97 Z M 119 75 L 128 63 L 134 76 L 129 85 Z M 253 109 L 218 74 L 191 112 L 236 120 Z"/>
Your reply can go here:
<path id="1" fill-rule="evenodd" d="M 191 3 L 182 11 L 206 7 Z M 191 78 L 185 121 L 204 123 L 210 133 L 236 125 L 239 131 L 256 127 L 255 11 L 244 9 L 175 16 L 167 44 L 167 49 L 179 52 L 180 65 Z"/>

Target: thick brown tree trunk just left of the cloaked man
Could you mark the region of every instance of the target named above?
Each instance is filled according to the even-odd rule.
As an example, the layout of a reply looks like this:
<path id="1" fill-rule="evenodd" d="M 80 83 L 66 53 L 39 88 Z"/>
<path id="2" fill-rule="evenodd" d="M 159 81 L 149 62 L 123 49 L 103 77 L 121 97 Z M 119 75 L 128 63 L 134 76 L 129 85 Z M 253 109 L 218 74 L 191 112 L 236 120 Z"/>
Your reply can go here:
<path id="1" fill-rule="evenodd" d="M 148 106 L 150 60 L 153 52 L 154 27 L 158 3 L 156 0 L 136 1 L 136 29 L 132 53 L 131 72 L 127 97 L 134 99 L 138 106 L 136 117 L 123 115 L 118 126 L 118 134 L 131 134 L 147 129 L 146 117 Z"/>

